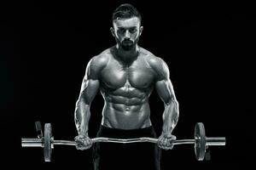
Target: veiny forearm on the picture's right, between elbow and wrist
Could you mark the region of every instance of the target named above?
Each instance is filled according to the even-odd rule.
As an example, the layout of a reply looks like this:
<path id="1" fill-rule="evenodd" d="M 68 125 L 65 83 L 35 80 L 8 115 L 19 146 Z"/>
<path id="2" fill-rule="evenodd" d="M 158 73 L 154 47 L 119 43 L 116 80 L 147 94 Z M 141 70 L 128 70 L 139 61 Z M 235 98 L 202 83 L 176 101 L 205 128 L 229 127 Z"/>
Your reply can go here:
<path id="1" fill-rule="evenodd" d="M 163 127 L 162 135 L 170 137 L 172 135 L 172 130 L 177 125 L 177 120 L 179 116 L 178 103 L 176 99 L 171 99 L 171 101 L 165 104 L 165 111 L 163 114 Z"/>

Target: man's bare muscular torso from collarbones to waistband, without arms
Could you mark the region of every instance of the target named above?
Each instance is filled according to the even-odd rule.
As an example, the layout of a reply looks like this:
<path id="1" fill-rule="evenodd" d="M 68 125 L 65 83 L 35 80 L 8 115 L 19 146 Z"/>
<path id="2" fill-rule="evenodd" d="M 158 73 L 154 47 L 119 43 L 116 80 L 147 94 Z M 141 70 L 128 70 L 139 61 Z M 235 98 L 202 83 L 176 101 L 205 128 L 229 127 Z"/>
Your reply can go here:
<path id="1" fill-rule="evenodd" d="M 102 125 L 120 129 L 151 126 L 148 97 L 154 87 L 155 72 L 148 64 L 152 56 L 143 50 L 126 65 L 108 53 L 108 64 L 101 71 L 101 92 L 105 100 Z"/>

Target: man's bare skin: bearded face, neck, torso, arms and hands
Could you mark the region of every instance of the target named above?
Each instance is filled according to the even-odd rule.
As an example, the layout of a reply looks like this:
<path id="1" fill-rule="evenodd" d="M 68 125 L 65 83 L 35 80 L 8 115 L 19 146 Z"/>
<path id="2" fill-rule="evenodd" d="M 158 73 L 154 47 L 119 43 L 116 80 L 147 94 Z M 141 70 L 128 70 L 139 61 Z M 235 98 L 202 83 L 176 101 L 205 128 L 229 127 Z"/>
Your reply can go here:
<path id="1" fill-rule="evenodd" d="M 172 149 L 172 130 L 178 120 L 178 103 L 164 60 L 137 45 L 143 31 L 137 17 L 114 20 L 111 32 L 117 44 L 88 63 L 75 108 L 78 150 L 92 145 L 88 136 L 90 104 L 98 91 L 104 99 L 102 125 L 118 129 L 151 126 L 148 97 L 155 88 L 165 104 L 160 148 Z"/>

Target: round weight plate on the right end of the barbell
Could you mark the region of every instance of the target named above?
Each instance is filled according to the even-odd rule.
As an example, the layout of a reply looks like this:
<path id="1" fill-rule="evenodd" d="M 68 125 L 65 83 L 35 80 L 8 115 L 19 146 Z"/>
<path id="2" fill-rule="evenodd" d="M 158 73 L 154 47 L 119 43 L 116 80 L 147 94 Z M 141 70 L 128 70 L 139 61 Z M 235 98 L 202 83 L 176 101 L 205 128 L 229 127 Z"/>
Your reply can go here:
<path id="1" fill-rule="evenodd" d="M 205 158 L 206 154 L 206 131 L 204 124 L 202 122 L 198 122 L 195 124 L 195 157 L 196 160 L 202 161 Z"/>

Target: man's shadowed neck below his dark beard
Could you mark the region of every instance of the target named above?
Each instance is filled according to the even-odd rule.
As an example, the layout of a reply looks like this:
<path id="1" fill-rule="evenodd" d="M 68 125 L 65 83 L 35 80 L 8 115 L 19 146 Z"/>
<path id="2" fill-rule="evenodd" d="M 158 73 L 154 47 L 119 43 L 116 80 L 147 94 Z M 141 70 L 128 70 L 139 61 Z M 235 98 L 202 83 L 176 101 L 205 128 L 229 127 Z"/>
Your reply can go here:
<path id="1" fill-rule="evenodd" d="M 119 59 L 123 60 L 124 62 L 132 62 L 133 60 L 137 59 L 139 53 L 139 47 L 136 45 L 131 50 L 127 51 L 116 45 L 117 55 Z"/>

